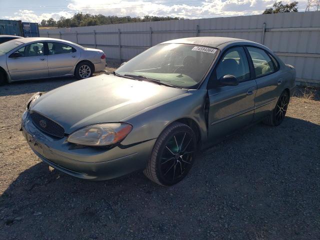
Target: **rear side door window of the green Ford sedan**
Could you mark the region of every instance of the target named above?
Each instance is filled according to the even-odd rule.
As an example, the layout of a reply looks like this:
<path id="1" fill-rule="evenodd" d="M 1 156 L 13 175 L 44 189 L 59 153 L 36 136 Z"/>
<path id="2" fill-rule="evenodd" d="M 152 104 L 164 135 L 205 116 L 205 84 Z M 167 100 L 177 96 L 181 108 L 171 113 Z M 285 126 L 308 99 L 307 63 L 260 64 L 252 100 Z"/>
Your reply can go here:
<path id="1" fill-rule="evenodd" d="M 247 47 L 247 49 L 253 62 L 255 77 L 274 71 L 272 60 L 264 50 L 257 47 Z"/>

